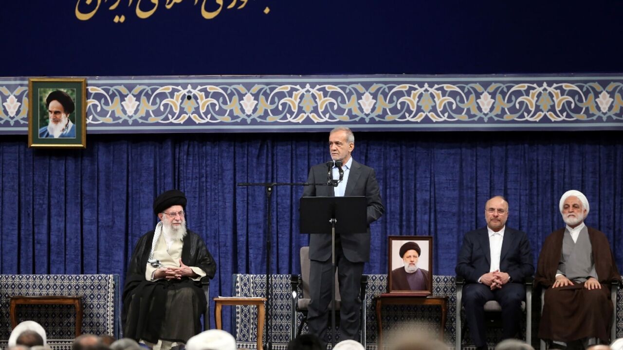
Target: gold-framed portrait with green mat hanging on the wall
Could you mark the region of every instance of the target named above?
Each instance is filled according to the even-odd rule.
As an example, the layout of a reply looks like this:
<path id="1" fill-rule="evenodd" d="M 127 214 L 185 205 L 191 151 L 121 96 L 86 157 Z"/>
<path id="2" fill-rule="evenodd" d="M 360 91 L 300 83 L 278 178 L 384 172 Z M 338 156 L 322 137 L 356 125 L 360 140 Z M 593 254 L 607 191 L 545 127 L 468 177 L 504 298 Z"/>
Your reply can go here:
<path id="1" fill-rule="evenodd" d="M 87 79 L 28 80 L 28 146 L 87 146 Z"/>

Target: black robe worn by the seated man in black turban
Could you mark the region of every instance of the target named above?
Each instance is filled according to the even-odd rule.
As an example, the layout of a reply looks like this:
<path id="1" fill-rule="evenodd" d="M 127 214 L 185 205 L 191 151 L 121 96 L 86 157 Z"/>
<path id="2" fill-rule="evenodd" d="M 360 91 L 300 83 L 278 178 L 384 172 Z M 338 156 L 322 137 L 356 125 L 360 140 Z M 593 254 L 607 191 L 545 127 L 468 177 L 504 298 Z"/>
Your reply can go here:
<path id="1" fill-rule="evenodd" d="M 199 267 L 206 272 L 204 278 L 214 278 L 216 273 L 216 262 L 206 248 L 206 244 L 201 237 L 191 230 L 186 231 L 183 239 L 182 262 L 184 265 Z M 154 231 L 147 232 L 138 240 L 126 275 L 125 286 L 123 287 L 123 311 L 121 313 L 121 326 L 125 338 L 143 339 L 150 343 L 158 343 L 158 339 L 166 341 L 177 341 L 186 343 L 190 336 L 201 332 L 201 315 L 206 310 L 207 300 L 201 289 L 201 283 L 191 278 L 185 277 L 181 280 L 145 280 L 145 270 L 147 260 L 151 252 L 151 242 L 153 241 Z M 192 300 L 189 300 L 189 307 L 192 307 L 189 315 L 189 323 L 179 323 L 178 319 L 169 319 L 171 327 L 167 332 L 161 332 L 165 315 L 181 310 L 164 310 L 167 298 L 171 298 L 175 291 L 190 291 Z M 194 294 L 194 295 L 193 295 Z M 188 295 L 188 294 L 186 294 Z M 188 327 L 179 326 L 180 324 L 191 324 Z M 169 327 L 169 325 L 166 325 Z M 178 328 L 176 329 L 176 326 Z"/>

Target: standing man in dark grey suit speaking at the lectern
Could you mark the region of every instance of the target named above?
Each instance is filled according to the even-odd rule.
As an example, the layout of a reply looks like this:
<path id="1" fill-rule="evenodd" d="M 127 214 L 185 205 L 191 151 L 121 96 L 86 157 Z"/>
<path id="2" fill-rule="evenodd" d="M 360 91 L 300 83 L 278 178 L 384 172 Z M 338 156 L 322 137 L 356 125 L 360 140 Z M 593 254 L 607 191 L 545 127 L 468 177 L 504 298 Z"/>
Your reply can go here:
<path id="1" fill-rule="evenodd" d="M 303 197 L 366 196 L 368 200 L 367 232 L 335 236 L 335 265 L 338 268 L 341 298 L 340 339 L 337 341 L 355 339 L 359 331 L 359 288 L 363 264 L 370 257 L 369 224 L 378 220 L 385 212 L 374 169 L 354 161 L 351 158 L 353 149 L 353 131 L 344 126 L 331 130 L 329 151 L 333 162 L 313 166 L 307 182 L 318 184 L 336 179 L 339 181 L 338 186 L 307 186 L 303 191 Z M 331 179 L 328 179 L 329 173 Z M 310 235 L 310 260 L 311 300 L 307 311 L 307 326 L 310 333 L 328 343 L 326 331 L 331 311 L 333 280 L 330 234 Z"/>

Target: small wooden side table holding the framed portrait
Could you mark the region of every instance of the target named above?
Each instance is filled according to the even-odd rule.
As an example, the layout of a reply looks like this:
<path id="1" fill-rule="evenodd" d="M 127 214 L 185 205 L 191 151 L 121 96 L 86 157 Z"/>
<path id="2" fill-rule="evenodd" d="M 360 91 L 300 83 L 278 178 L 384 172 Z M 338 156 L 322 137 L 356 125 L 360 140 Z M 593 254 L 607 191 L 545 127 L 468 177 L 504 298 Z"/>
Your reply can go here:
<path id="1" fill-rule="evenodd" d="M 445 318 L 448 312 L 448 297 L 445 295 L 414 296 L 408 293 L 383 293 L 376 296 L 376 324 L 379 329 L 379 350 L 383 350 L 383 324 L 381 307 L 384 305 L 439 305 L 441 307 L 441 340 L 444 340 Z"/>

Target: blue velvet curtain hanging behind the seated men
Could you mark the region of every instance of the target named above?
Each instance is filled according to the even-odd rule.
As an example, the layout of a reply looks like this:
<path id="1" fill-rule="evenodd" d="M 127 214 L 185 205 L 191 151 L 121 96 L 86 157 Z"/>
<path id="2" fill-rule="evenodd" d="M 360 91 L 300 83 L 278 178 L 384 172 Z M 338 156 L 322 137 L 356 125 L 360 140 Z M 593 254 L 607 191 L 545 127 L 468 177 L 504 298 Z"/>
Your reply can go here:
<path id="1" fill-rule="evenodd" d="M 563 227 L 559 197 L 583 191 L 587 225 L 608 237 L 623 266 L 623 138 L 608 132 L 355 133 L 353 157 L 376 169 L 386 214 L 372 225 L 366 273 L 386 273 L 388 235 L 432 235 L 434 273 L 454 275 L 468 230 L 488 197 L 506 196 L 507 225 L 525 230 L 536 258 Z M 305 182 L 329 159 L 328 133 L 89 135 L 83 150 L 29 149 L 0 140 L 2 273 L 118 273 L 138 237 L 153 230 L 153 199 L 177 187 L 188 227 L 218 263 L 213 295 L 231 294 L 232 273 L 265 273 L 264 187 Z M 298 273 L 302 187 L 272 195 L 273 273 Z M 226 323 L 227 324 L 227 323 Z"/>

